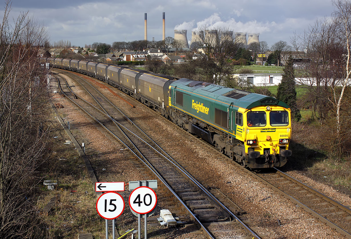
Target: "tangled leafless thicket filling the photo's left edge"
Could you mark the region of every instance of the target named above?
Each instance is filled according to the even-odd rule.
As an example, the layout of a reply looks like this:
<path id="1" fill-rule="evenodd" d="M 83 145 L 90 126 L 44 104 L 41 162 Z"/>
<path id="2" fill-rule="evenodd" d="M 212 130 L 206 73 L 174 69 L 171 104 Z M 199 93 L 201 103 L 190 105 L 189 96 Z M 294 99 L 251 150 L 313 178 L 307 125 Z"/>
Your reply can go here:
<path id="1" fill-rule="evenodd" d="M 45 28 L 27 12 L 9 21 L 6 2 L 0 24 L 0 236 L 32 237 L 35 175 L 49 141 L 46 79 L 38 61 Z"/>

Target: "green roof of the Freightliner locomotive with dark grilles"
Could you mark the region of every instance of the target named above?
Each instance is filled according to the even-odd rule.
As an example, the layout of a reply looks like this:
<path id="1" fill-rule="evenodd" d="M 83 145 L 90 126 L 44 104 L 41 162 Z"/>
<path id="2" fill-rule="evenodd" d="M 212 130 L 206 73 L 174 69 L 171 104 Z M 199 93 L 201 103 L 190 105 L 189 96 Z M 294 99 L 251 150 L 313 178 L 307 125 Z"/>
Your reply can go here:
<path id="1" fill-rule="evenodd" d="M 267 95 L 251 93 L 207 82 L 182 78 L 174 81 L 171 86 L 177 86 L 177 89 L 183 90 L 184 93 L 194 93 L 208 99 L 221 101 L 228 105 L 244 109 L 250 109 L 259 105 L 279 105 L 290 108 L 284 102 Z"/>

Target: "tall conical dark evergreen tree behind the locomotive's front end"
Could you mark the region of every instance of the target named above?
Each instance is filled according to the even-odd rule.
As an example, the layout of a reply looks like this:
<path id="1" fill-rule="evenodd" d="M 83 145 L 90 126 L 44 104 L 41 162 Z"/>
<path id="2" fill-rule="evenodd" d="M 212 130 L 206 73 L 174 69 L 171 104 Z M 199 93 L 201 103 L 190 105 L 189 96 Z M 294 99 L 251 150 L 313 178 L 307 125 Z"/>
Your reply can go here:
<path id="1" fill-rule="evenodd" d="M 282 81 L 278 85 L 277 99 L 289 105 L 291 118 L 299 121 L 301 119 L 301 114 L 296 102 L 295 75 L 291 58 L 286 63 L 283 71 Z"/>

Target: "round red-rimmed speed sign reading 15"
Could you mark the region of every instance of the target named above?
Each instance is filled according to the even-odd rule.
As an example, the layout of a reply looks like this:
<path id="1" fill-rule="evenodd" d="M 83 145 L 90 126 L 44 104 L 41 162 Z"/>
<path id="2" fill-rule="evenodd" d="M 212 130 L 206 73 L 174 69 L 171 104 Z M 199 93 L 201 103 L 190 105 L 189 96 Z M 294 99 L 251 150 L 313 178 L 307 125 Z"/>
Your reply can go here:
<path id="1" fill-rule="evenodd" d="M 116 192 L 102 194 L 96 202 L 96 211 L 102 218 L 111 220 L 118 218 L 124 211 L 124 200 Z"/>

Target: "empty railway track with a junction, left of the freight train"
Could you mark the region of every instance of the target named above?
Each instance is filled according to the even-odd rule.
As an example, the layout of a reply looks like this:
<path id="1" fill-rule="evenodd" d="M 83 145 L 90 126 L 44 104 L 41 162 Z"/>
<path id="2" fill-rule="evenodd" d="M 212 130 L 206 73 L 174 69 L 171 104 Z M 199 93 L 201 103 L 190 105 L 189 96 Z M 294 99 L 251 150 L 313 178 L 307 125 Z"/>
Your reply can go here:
<path id="1" fill-rule="evenodd" d="M 57 75 L 61 92 L 143 162 L 183 205 L 194 223 L 208 238 L 216 238 L 216 232 L 210 232 L 204 223 L 228 221 L 233 221 L 237 227 L 233 230 L 235 231 L 233 236 L 260 238 L 87 80 L 72 73 L 65 72 L 65 74 L 79 78 L 78 84 L 85 88 L 92 100 L 83 99 L 75 94 L 66 79 Z M 93 96 L 90 92 L 94 92 L 93 94 L 97 96 Z"/>

